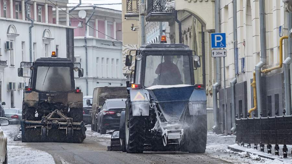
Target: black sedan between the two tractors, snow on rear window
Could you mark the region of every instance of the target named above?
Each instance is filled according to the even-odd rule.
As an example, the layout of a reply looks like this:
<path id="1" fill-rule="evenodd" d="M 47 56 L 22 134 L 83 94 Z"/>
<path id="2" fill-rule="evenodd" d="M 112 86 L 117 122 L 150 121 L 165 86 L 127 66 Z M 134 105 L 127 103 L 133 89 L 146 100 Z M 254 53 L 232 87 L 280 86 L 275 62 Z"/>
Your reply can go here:
<path id="1" fill-rule="evenodd" d="M 120 127 L 121 112 L 126 109 L 126 99 L 108 99 L 96 116 L 96 127 L 100 134 Z"/>

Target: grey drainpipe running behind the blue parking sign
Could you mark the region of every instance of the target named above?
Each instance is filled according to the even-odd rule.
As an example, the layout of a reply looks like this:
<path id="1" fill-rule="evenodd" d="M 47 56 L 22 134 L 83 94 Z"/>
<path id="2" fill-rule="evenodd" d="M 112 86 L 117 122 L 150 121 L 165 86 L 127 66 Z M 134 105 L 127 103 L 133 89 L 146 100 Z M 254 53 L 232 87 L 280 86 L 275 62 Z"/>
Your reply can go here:
<path id="1" fill-rule="evenodd" d="M 220 0 L 215 0 L 215 32 L 220 32 Z M 214 126 L 212 129 L 214 131 L 219 130 L 219 117 L 217 114 L 218 110 L 218 88 L 220 88 L 221 84 L 221 59 L 220 57 L 216 57 L 216 83 L 213 84 L 213 114 L 214 114 Z"/>

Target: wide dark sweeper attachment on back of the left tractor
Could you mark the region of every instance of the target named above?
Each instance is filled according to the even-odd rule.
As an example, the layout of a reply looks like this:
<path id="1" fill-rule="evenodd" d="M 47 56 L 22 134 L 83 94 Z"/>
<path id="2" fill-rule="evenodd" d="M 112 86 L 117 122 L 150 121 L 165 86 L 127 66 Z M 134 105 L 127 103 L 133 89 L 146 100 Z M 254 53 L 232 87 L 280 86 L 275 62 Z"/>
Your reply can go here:
<path id="1" fill-rule="evenodd" d="M 61 111 L 54 110 L 41 121 L 21 120 L 22 142 L 82 143 L 86 127 L 82 122 L 73 122 Z"/>

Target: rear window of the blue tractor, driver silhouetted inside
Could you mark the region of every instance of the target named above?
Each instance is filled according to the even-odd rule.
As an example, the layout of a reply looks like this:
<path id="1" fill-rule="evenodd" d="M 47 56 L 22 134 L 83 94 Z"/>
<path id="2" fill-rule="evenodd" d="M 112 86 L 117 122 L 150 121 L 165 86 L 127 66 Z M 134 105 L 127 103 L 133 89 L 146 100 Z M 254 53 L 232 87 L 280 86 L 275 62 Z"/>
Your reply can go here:
<path id="1" fill-rule="evenodd" d="M 178 84 L 191 85 L 188 55 L 147 55 L 145 87 Z"/>

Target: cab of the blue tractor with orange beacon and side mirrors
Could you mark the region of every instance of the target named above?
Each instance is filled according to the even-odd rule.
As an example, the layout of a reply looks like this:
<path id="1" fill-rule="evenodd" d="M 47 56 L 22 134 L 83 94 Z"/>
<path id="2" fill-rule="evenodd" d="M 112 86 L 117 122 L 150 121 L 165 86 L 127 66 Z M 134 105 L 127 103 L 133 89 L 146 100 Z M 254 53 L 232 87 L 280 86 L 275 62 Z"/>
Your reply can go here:
<path id="1" fill-rule="evenodd" d="M 162 40 L 165 42 L 164 36 Z M 129 68 L 132 59 L 132 55 L 126 56 L 126 66 Z M 200 66 L 200 57 L 184 44 L 152 43 L 136 51 L 135 71 L 131 71 L 134 71 L 134 84 L 140 84 L 142 88 L 154 85 L 194 85 L 194 68 Z"/>

